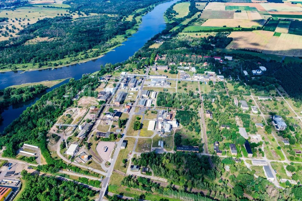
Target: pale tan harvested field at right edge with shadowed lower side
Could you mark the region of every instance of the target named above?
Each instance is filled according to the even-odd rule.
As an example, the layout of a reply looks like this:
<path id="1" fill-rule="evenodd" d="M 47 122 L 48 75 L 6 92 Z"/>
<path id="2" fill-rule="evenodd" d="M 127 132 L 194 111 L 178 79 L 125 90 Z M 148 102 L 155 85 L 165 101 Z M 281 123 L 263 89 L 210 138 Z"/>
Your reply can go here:
<path id="1" fill-rule="evenodd" d="M 282 56 L 302 56 L 302 36 L 281 34 L 273 36 L 262 53 Z"/>

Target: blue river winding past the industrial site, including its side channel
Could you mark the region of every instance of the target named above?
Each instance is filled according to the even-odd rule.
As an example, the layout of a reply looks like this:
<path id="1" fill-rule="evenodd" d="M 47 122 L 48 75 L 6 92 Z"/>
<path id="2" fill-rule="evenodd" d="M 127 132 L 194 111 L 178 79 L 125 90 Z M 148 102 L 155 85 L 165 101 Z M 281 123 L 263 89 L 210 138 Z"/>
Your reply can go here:
<path id="1" fill-rule="evenodd" d="M 30 82 L 40 82 L 45 80 L 57 80 L 62 78 L 73 77 L 75 79 L 80 79 L 85 73 L 92 73 L 100 69 L 100 65 L 105 65 L 106 63 L 117 63 L 125 61 L 132 56 L 138 49 L 140 49 L 150 38 L 158 34 L 165 29 L 165 20 L 163 18 L 164 12 L 173 3 L 178 0 L 173 0 L 170 2 L 165 2 L 157 5 L 152 11 L 148 12 L 142 17 L 142 23 L 140 24 L 137 33 L 133 34 L 127 41 L 99 59 L 91 60 L 81 64 L 69 65 L 56 69 L 44 69 L 36 71 L 10 71 L 10 72 L 0 72 L 0 89 L 11 85 L 20 85 Z M 46 92 L 51 91 L 53 88 L 58 87 L 68 80 L 47 89 Z M 46 93 L 45 92 L 45 93 Z M 43 93 L 43 94 L 45 94 Z M 16 104 L 10 106 L 7 110 L 2 113 L 4 121 L 0 124 L 0 132 L 8 126 L 14 119 L 16 119 L 20 114 L 29 106 L 34 104 L 43 95 L 40 94 L 37 98 L 27 101 L 22 104 Z"/>

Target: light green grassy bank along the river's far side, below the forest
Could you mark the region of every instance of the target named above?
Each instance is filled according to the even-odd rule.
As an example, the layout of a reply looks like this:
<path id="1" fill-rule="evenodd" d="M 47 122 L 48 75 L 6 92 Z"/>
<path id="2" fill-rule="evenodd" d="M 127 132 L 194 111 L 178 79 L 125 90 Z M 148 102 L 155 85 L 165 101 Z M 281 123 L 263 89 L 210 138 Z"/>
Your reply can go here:
<path id="1" fill-rule="evenodd" d="M 91 61 L 91 60 L 99 59 L 102 56 L 104 56 L 105 54 L 107 54 L 108 52 L 113 51 L 115 48 L 121 46 L 122 43 L 127 41 L 129 37 L 132 37 L 133 34 L 137 33 L 137 31 L 140 27 L 140 24 L 142 23 L 142 17 L 144 15 L 146 15 L 149 11 L 152 11 L 155 8 L 156 5 L 158 5 L 158 4 L 153 4 L 153 5 L 150 5 L 146 8 L 137 9 L 131 15 L 129 15 L 126 18 L 126 21 L 131 21 L 133 19 L 134 14 L 137 14 L 137 13 L 139 13 L 139 12 L 145 10 L 145 9 L 148 9 L 143 14 L 135 17 L 135 20 L 137 21 L 137 23 L 131 29 L 126 30 L 125 34 L 117 35 L 114 38 L 110 39 L 108 41 L 108 43 L 117 44 L 117 45 L 112 46 L 110 48 L 107 48 L 107 50 L 102 52 L 102 53 L 98 53 L 99 49 L 89 49 L 85 52 L 80 53 L 76 57 L 67 57 L 67 56 L 65 56 L 63 59 L 59 59 L 59 60 L 56 60 L 56 61 L 50 61 L 50 62 L 48 62 L 47 66 L 42 66 L 40 68 L 39 68 L 38 63 L 36 63 L 35 65 L 33 65 L 31 63 L 24 63 L 24 64 L 14 64 L 13 65 L 13 66 L 15 66 L 14 69 L 0 69 L 0 72 L 10 72 L 10 71 L 20 71 L 21 70 L 21 71 L 23 71 L 21 73 L 24 73 L 24 72 L 36 71 L 36 70 L 57 69 L 57 68 L 62 68 L 64 66 L 81 64 L 81 63 L 85 63 L 85 62 L 88 62 L 88 61 Z M 99 54 L 99 55 L 94 56 L 95 54 Z M 87 57 L 87 55 L 89 57 L 84 58 L 84 57 Z M 24 66 L 26 66 L 26 67 L 24 68 Z"/>

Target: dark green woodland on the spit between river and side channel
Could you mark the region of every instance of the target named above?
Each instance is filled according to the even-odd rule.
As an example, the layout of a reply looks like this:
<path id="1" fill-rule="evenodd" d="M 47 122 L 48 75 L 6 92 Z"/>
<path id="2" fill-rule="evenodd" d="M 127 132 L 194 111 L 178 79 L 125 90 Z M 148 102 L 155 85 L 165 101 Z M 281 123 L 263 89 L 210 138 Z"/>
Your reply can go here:
<path id="1" fill-rule="evenodd" d="M 0 91 L 0 96 L 3 95 L 3 100 L 0 101 L 0 114 L 5 110 L 6 107 L 12 104 L 29 101 L 46 89 L 47 87 L 44 85 L 32 85 L 21 88 L 5 88 L 4 91 Z"/>

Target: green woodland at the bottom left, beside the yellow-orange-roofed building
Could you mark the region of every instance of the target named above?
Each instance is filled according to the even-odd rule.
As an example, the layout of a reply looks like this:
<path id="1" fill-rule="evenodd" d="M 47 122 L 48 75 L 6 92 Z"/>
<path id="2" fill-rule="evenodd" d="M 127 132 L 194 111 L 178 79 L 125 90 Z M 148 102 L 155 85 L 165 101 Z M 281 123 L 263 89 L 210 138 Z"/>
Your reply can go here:
<path id="1" fill-rule="evenodd" d="M 96 191 L 90 190 L 72 181 L 60 181 L 56 177 L 31 175 L 26 170 L 21 172 L 26 185 L 19 201 L 28 200 L 70 200 L 91 201 Z"/>

